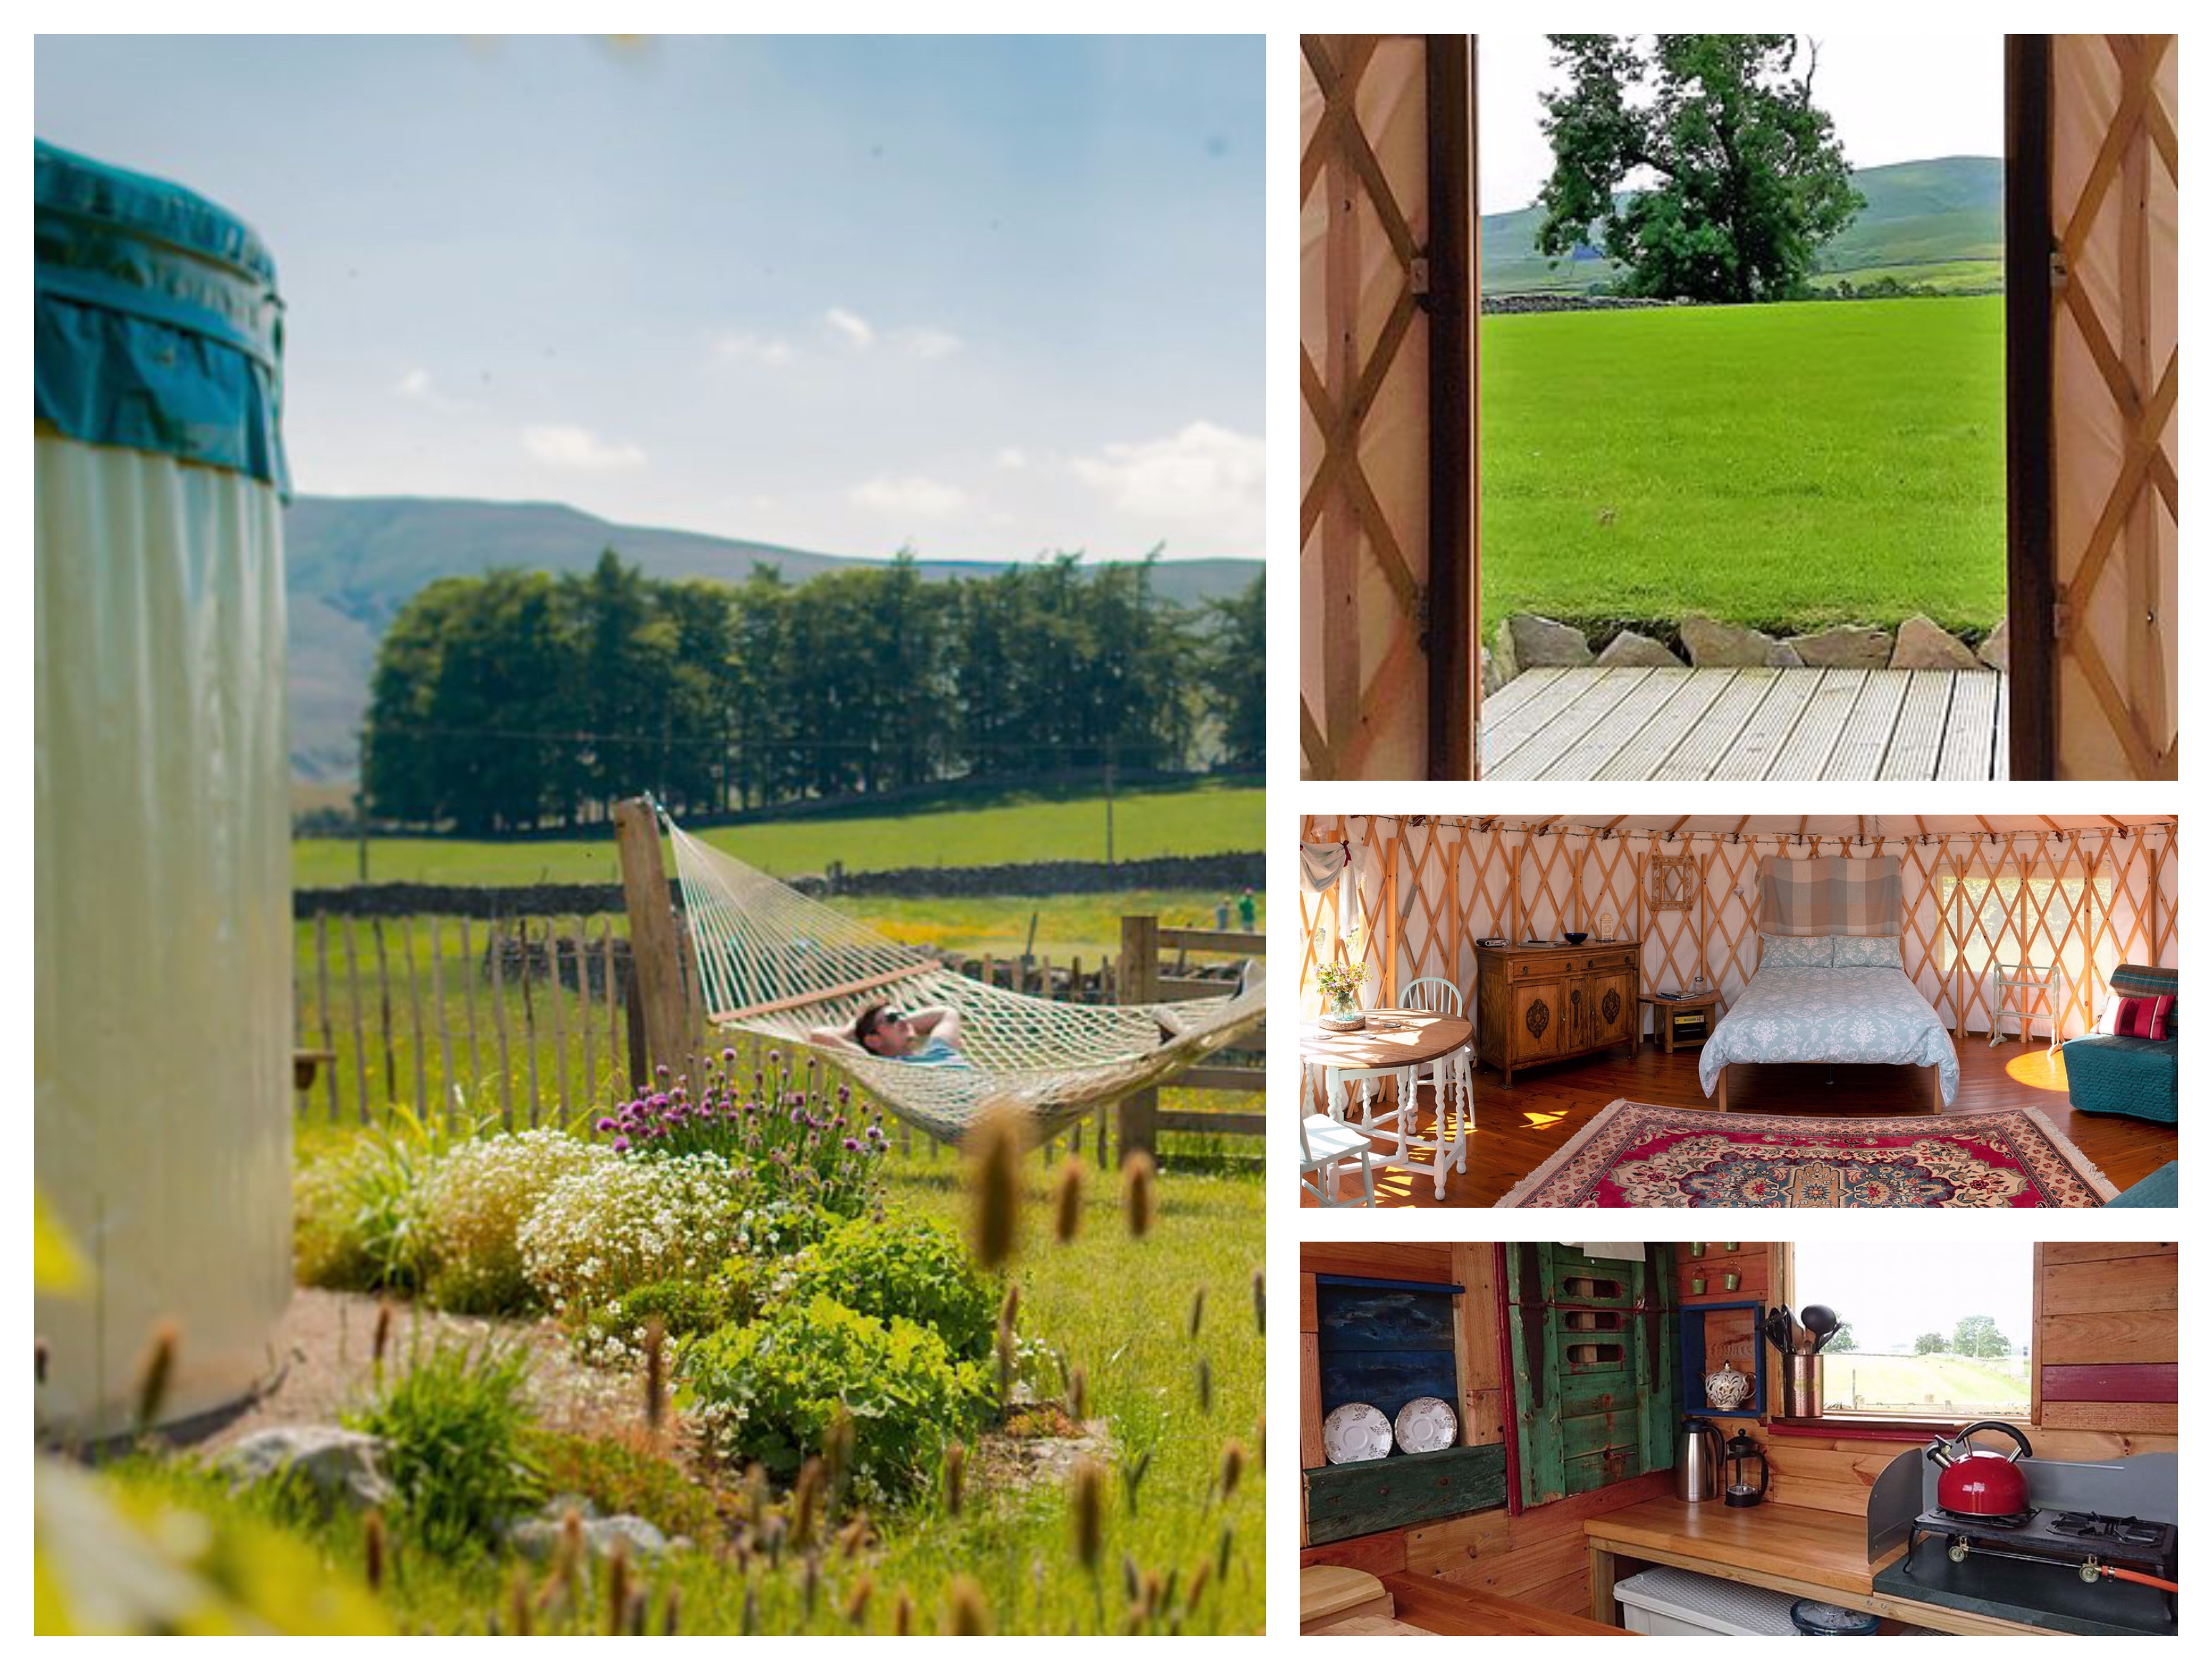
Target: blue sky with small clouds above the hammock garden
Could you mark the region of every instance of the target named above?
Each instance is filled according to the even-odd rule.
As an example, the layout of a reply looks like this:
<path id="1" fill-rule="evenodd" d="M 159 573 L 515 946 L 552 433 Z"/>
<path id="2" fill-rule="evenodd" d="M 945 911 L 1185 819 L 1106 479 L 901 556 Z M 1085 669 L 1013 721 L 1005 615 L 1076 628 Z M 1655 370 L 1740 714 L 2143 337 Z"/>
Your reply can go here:
<path id="1" fill-rule="evenodd" d="M 1241 40 L 42 38 L 38 137 L 243 217 L 303 493 L 836 555 L 1263 553 Z"/>

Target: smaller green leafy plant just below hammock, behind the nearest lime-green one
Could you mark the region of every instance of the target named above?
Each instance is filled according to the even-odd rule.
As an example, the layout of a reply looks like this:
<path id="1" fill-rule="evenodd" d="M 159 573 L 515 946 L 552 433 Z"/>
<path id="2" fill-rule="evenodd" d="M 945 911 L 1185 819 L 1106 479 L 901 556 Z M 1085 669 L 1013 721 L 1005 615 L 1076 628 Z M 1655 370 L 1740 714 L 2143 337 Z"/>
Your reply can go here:
<path id="1" fill-rule="evenodd" d="M 779 1303 L 827 1294 L 865 1316 L 931 1327 L 956 1358 L 991 1356 L 1004 1290 L 967 1256 L 960 1236 L 920 1214 L 854 1219 L 801 1252 Z"/>

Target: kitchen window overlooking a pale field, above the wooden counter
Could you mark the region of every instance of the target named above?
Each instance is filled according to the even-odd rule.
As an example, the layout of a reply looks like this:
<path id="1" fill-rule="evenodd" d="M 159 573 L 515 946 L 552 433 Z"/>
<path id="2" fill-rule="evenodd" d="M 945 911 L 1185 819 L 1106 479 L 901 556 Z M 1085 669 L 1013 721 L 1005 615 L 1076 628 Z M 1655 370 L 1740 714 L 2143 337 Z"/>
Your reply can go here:
<path id="1" fill-rule="evenodd" d="M 1798 1241 L 1792 1309 L 1827 1305 L 1823 1416 L 2028 1416 L 2035 1248 L 2024 1241 Z"/>

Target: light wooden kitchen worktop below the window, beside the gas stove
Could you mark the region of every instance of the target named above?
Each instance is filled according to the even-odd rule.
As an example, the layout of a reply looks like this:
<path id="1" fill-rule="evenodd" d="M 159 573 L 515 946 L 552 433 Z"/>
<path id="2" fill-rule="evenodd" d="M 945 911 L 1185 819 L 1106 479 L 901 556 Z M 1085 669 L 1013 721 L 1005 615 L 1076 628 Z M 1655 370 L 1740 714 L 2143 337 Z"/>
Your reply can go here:
<path id="1" fill-rule="evenodd" d="M 1867 1522 L 1856 1513 L 1818 1513 L 1781 1502 L 1725 1509 L 1719 1502 L 1663 1497 L 1584 1520 L 1582 1531 L 1590 1544 L 1590 1615 L 1601 1621 L 1613 1619 L 1615 1557 L 1626 1555 L 1650 1566 L 1679 1566 L 1781 1595 L 1834 1601 L 1900 1624 L 1924 1624 L 1944 1635 L 2055 1635 L 1951 1606 L 1876 1595 L 1874 1566 L 1867 1564 Z"/>

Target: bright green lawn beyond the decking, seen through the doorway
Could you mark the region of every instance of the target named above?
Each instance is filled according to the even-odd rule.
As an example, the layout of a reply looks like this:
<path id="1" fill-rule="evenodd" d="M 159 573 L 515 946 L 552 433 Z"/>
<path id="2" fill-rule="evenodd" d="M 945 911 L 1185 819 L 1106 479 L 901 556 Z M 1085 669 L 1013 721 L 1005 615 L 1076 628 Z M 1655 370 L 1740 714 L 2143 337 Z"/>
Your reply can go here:
<path id="1" fill-rule="evenodd" d="M 1482 321 L 1482 619 L 2004 613 L 2004 299 Z"/>

